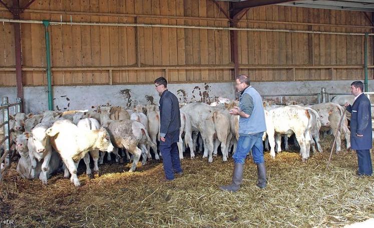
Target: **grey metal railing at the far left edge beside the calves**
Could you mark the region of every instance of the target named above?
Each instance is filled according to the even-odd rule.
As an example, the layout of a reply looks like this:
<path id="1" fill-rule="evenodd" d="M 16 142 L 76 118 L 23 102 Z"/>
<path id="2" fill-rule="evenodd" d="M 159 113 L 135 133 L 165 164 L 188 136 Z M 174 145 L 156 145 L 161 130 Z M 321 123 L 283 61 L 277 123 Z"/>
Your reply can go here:
<path id="1" fill-rule="evenodd" d="M 2 154 L 0 151 L 0 164 L 4 163 L 5 166 L 3 169 L 0 168 L 0 181 L 3 179 L 3 175 L 5 174 L 7 169 L 11 166 L 12 158 L 16 153 L 16 150 L 14 150 L 13 152 L 11 151 L 13 142 L 11 142 L 11 129 L 9 126 L 9 115 L 11 111 L 10 108 L 13 107 L 13 113 L 17 114 L 21 112 L 21 105 L 21 98 L 17 98 L 16 103 L 10 104 L 8 97 L 2 97 L 2 104 L 0 106 L 0 110 L 3 112 L 3 122 L 0 123 L 0 127 L 3 127 L 4 136 L 3 138 L 0 138 L 0 147 L 4 145 L 4 152 Z"/>

